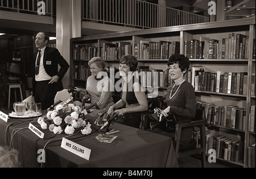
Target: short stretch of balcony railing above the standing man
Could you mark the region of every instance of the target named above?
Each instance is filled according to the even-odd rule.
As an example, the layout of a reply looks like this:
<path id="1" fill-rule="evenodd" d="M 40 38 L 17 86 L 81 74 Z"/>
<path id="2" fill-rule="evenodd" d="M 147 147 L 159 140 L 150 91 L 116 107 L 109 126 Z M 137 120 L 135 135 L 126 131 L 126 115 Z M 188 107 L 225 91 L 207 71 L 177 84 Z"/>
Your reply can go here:
<path id="1" fill-rule="evenodd" d="M 38 6 L 38 2 L 40 2 Z M 39 15 L 38 10 L 45 5 L 46 16 L 53 16 L 53 0 L 0 0 L 0 10 L 11 11 L 15 13 Z"/>

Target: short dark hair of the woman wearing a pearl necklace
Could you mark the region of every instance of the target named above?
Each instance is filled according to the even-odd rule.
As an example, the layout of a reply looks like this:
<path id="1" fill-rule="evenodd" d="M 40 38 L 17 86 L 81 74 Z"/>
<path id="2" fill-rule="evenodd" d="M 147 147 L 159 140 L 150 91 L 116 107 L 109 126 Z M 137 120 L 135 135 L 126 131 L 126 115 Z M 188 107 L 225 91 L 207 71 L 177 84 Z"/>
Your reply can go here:
<path id="1" fill-rule="evenodd" d="M 173 64 L 178 64 L 179 68 L 181 69 L 181 72 L 184 72 L 186 70 L 185 73 L 187 73 L 189 69 L 190 61 L 188 57 L 185 57 L 184 55 L 175 54 L 170 57 L 167 63 L 168 66 Z"/>

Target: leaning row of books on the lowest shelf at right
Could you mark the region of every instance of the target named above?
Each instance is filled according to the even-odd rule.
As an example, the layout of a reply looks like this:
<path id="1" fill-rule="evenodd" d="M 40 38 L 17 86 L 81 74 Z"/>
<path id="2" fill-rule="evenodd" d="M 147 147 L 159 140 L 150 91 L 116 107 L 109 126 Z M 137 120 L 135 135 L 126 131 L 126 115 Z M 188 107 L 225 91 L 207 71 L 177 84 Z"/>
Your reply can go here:
<path id="1" fill-rule="evenodd" d="M 242 162 L 243 160 L 243 141 L 212 133 L 205 135 L 205 144 L 205 153 L 208 155 L 216 155 L 217 158 L 227 161 Z M 212 149 L 215 153 L 212 153 Z"/>

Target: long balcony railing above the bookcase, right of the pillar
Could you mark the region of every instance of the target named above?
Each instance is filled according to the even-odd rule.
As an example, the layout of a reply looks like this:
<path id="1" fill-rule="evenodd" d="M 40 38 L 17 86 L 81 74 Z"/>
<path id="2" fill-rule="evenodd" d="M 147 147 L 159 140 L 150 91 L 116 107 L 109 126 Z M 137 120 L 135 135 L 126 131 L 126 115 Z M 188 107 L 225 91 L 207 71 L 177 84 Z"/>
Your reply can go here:
<path id="1" fill-rule="evenodd" d="M 209 17 L 140 0 L 82 0 L 82 20 L 137 28 L 209 22 Z"/>

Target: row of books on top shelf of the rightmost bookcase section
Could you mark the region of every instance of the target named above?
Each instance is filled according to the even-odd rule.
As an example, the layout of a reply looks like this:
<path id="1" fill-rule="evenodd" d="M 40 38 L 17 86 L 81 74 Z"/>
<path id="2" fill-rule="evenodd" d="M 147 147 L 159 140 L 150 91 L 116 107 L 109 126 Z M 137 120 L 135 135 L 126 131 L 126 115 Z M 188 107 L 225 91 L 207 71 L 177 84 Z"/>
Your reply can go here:
<path id="1" fill-rule="evenodd" d="M 248 59 L 248 47 L 249 38 L 239 33 L 229 33 L 221 40 L 200 36 L 184 41 L 184 54 L 190 59 Z"/>

